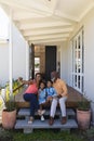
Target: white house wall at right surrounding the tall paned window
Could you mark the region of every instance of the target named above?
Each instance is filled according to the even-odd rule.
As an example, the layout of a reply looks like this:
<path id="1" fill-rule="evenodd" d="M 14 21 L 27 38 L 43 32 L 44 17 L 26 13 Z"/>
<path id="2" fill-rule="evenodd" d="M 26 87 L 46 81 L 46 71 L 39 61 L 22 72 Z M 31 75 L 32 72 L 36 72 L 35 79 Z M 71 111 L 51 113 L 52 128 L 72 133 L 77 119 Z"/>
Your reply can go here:
<path id="1" fill-rule="evenodd" d="M 92 9 L 86 16 L 77 25 L 76 30 L 71 35 L 71 38 L 83 26 L 84 28 L 84 91 L 85 94 L 94 101 L 94 9 Z M 70 49 L 70 46 L 68 47 Z M 71 56 L 69 57 L 71 60 Z M 68 65 L 69 72 L 71 72 L 71 65 Z M 68 80 L 70 75 L 68 72 Z"/>

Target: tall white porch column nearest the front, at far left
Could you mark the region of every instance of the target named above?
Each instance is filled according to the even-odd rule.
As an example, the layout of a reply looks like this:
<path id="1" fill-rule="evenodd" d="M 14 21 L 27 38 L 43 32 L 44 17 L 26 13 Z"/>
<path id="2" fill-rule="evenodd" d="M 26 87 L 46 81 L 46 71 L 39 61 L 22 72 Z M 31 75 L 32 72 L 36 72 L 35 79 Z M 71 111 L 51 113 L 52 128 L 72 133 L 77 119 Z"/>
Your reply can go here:
<path id="1" fill-rule="evenodd" d="M 10 10 L 10 30 L 9 30 L 9 79 L 10 79 L 10 95 L 13 94 L 12 78 L 13 78 L 13 27 L 12 27 L 12 10 Z"/>

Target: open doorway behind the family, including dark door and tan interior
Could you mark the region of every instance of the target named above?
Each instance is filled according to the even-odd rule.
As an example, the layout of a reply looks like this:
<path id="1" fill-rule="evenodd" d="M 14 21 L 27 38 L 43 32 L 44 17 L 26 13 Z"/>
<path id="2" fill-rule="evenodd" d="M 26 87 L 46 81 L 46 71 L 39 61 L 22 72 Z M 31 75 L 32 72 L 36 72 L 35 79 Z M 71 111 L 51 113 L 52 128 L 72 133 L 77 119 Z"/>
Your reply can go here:
<path id="1" fill-rule="evenodd" d="M 56 46 L 35 46 L 33 74 L 40 72 L 45 80 L 51 79 L 51 72 L 56 70 Z"/>

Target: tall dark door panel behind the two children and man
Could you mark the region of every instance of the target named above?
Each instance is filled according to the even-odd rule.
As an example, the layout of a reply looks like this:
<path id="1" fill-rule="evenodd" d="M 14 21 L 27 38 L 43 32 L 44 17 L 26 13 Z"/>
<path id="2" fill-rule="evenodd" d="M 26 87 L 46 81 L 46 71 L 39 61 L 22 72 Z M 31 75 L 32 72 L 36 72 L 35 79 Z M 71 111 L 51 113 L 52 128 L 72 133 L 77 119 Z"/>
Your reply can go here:
<path id="1" fill-rule="evenodd" d="M 45 79 L 51 79 L 51 72 L 56 70 L 56 46 L 45 47 Z"/>

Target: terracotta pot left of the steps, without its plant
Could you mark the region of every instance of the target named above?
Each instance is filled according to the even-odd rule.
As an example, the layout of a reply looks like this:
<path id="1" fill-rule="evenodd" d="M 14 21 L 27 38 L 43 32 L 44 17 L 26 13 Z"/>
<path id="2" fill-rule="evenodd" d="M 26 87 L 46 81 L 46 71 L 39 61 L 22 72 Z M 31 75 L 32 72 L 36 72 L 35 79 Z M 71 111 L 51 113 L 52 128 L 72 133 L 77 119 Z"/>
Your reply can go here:
<path id="1" fill-rule="evenodd" d="M 16 121 L 16 110 L 12 112 L 2 111 L 2 126 L 5 129 L 12 129 Z"/>

